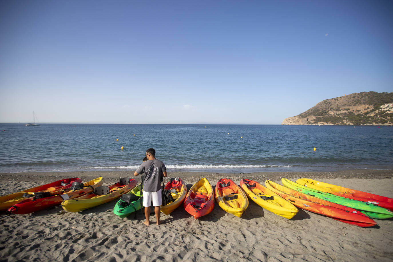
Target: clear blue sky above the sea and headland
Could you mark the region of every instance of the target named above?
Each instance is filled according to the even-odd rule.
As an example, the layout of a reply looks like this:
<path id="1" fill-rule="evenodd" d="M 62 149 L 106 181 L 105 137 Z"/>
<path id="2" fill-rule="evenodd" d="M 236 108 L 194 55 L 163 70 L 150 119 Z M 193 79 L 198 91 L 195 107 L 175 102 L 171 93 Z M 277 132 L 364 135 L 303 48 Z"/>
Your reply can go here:
<path id="1" fill-rule="evenodd" d="M 281 124 L 393 92 L 393 2 L 0 1 L 0 123 Z"/>

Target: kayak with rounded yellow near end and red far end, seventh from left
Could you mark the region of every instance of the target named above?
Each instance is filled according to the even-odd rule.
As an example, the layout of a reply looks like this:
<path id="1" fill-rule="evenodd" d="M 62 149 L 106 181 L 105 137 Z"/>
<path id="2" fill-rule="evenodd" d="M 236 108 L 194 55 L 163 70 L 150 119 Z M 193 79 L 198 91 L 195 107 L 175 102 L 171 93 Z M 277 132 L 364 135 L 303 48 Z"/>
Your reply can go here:
<path id="1" fill-rule="evenodd" d="M 241 217 L 248 207 L 246 194 L 229 178 L 222 178 L 217 182 L 214 196 L 224 211 L 238 217 Z"/>

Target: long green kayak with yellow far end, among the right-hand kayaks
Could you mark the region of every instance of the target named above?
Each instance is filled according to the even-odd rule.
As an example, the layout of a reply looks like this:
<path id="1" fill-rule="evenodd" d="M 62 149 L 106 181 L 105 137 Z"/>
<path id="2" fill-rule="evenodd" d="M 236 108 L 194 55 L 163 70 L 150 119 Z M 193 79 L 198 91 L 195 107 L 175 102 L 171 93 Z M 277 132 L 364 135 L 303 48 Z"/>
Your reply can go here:
<path id="1" fill-rule="evenodd" d="M 290 189 L 294 189 L 304 194 L 309 194 L 310 196 L 315 196 L 316 198 L 327 200 L 329 202 L 345 205 L 347 207 L 352 207 L 371 218 L 386 219 L 386 218 L 393 217 L 393 212 L 383 207 L 380 207 L 378 205 L 321 192 L 309 187 L 305 187 L 293 181 L 287 180 L 286 178 L 282 178 L 281 182 L 285 187 L 289 187 Z"/>

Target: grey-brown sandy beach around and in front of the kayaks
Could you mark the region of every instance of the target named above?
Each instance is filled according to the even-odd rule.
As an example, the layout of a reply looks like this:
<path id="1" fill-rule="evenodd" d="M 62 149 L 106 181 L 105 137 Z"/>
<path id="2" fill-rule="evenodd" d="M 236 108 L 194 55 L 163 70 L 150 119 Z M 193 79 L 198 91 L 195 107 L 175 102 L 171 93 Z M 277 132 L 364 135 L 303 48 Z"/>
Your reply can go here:
<path id="1" fill-rule="evenodd" d="M 0 174 L 1 194 L 68 177 L 88 181 L 104 177 L 104 185 L 132 176 L 119 172 L 46 172 Z M 338 172 L 263 172 L 220 174 L 168 172 L 190 187 L 202 177 L 211 185 L 220 178 L 239 184 L 250 178 L 281 184 L 298 177 L 342 185 L 393 197 L 393 170 Z M 136 177 L 140 180 L 140 176 Z M 143 225 L 140 211 L 119 219 L 116 201 L 80 213 L 63 212 L 61 206 L 27 215 L 0 215 L 0 261 L 392 261 L 393 220 L 375 220 L 377 226 L 361 228 L 299 210 L 288 220 L 252 201 L 241 218 L 219 205 L 195 220 L 180 206 L 162 224 Z M 151 215 L 151 222 L 155 221 Z"/>

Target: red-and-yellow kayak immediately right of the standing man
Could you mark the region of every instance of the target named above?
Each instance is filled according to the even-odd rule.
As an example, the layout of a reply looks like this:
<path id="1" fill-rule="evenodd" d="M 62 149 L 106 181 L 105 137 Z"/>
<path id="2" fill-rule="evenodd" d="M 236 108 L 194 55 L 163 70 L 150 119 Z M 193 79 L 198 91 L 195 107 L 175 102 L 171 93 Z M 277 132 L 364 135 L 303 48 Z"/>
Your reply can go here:
<path id="1" fill-rule="evenodd" d="M 166 205 L 161 206 L 161 212 L 168 215 L 184 202 L 187 186 L 181 178 L 171 178 L 163 190 L 167 190 L 172 198 Z"/>

